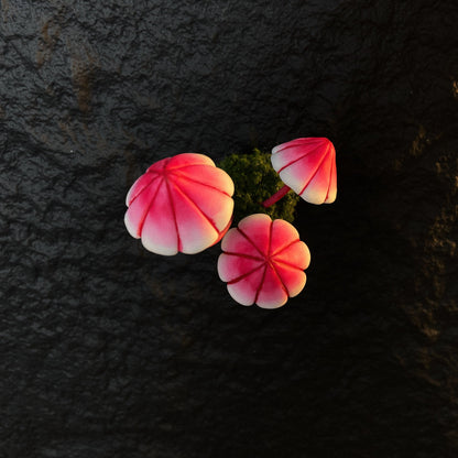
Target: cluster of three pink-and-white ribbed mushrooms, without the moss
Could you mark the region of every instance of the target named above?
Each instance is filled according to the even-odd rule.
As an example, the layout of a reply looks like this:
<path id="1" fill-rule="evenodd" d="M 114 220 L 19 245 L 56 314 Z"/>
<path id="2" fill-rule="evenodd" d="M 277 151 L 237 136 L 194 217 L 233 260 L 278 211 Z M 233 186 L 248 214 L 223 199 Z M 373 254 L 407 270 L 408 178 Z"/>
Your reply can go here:
<path id="1" fill-rule="evenodd" d="M 336 150 L 325 138 L 301 138 L 272 150 L 284 186 L 260 204 L 266 208 L 290 189 L 312 204 L 336 199 Z M 151 165 L 128 192 L 129 233 L 157 254 L 198 253 L 221 239 L 217 270 L 230 296 L 242 305 L 283 306 L 302 292 L 310 252 L 283 219 L 254 214 L 231 228 L 235 186 L 204 154 L 184 153 Z"/>

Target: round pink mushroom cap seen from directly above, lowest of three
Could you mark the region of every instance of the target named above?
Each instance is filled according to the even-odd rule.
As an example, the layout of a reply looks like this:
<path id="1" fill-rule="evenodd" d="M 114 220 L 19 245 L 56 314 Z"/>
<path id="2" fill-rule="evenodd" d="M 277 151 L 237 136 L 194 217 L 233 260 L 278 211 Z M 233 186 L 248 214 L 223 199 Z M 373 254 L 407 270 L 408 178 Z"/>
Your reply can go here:
<path id="1" fill-rule="evenodd" d="M 221 249 L 219 277 L 242 305 L 277 308 L 305 285 L 310 252 L 294 226 L 283 219 L 250 215 L 228 231 Z"/>

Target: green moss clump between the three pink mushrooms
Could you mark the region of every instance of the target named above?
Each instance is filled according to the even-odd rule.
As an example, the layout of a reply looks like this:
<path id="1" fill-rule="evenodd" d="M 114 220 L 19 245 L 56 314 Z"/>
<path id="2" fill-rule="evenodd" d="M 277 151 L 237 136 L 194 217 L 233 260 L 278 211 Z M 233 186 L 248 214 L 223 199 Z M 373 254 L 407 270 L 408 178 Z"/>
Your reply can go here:
<path id="1" fill-rule="evenodd" d="M 233 195 L 233 222 L 252 214 L 268 214 L 272 219 L 293 222 L 294 209 L 299 197 L 292 190 L 269 208 L 261 203 L 276 193 L 283 182 L 273 170 L 270 154 L 254 149 L 251 154 L 230 154 L 219 164 L 232 178 L 236 186 Z"/>

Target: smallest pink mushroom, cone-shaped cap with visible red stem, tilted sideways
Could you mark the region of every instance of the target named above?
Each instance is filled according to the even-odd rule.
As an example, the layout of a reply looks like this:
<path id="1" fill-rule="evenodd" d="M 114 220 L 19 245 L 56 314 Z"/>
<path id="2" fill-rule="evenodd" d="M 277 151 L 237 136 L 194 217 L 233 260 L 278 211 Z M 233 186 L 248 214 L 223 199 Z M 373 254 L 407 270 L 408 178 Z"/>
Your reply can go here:
<path id="1" fill-rule="evenodd" d="M 325 138 L 296 139 L 272 150 L 271 162 L 285 184 L 262 203 L 268 208 L 293 189 L 310 204 L 336 200 L 336 150 Z"/>

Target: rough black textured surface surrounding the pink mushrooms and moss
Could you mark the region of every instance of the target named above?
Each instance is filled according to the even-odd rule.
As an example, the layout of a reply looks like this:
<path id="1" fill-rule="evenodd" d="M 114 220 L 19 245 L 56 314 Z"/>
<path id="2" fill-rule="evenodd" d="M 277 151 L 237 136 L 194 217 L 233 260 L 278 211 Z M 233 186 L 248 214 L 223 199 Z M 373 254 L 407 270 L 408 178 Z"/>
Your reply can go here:
<path id="1" fill-rule="evenodd" d="M 0 457 L 456 457 L 455 0 L 2 0 Z M 123 226 L 151 163 L 332 140 L 304 292 Z"/>

